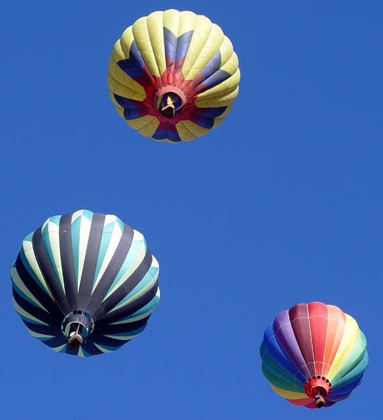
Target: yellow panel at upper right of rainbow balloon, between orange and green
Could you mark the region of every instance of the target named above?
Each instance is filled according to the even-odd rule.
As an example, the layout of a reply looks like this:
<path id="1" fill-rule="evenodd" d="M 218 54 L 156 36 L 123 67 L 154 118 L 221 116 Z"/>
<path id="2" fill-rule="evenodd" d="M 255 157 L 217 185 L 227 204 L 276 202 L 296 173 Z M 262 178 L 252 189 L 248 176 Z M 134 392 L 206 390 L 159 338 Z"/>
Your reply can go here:
<path id="1" fill-rule="evenodd" d="M 345 332 L 343 333 L 341 344 L 339 345 L 338 351 L 334 357 L 334 361 L 331 364 L 329 373 L 327 373 L 327 379 L 331 382 L 339 369 L 343 366 L 347 358 L 351 355 L 355 345 L 359 340 L 359 326 L 357 321 L 352 316 L 346 316 Z"/>

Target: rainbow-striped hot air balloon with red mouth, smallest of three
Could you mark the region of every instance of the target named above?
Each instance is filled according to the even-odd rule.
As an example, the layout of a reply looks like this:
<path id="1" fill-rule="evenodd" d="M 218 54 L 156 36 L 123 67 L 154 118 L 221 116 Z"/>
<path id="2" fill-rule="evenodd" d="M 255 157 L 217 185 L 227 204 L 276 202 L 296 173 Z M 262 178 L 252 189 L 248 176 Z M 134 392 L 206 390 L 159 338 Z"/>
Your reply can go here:
<path id="1" fill-rule="evenodd" d="M 260 357 L 276 394 L 308 408 L 350 396 L 368 365 L 366 336 L 354 318 L 320 302 L 279 313 L 265 330 Z"/>

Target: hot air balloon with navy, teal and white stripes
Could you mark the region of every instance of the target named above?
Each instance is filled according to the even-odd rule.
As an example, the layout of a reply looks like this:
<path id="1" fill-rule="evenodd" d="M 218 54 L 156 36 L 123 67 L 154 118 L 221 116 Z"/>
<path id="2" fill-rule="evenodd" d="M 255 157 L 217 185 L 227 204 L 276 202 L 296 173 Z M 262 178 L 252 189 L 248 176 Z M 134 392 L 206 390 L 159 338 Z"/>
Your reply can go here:
<path id="1" fill-rule="evenodd" d="M 24 238 L 10 271 L 13 305 L 56 352 L 99 355 L 145 329 L 159 302 L 158 271 L 141 233 L 114 215 L 79 210 Z"/>

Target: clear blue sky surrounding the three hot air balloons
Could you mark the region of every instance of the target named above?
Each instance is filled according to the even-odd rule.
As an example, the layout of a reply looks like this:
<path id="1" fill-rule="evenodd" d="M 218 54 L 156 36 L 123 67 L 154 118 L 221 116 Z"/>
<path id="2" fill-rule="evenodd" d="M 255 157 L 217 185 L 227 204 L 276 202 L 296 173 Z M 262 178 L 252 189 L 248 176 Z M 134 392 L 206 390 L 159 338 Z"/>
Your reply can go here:
<path id="1" fill-rule="evenodd" d="M 127 127 L 106 84 L 123 29 L 166 8 L 219 24 L 242 70 L 224 123 L 178 145 Z M 2 5 L 4 419 L 382 416 L 382 15 L 379 0 Z M 8 274 L 24 235 L 80 208 L 146 236 L 162 291 L 138 339 L 89 359 L 29 336 Z M 276 396 L 258 356 L 276 313 L 312 300 L 354 316 L 370 353 L 359 389 L 319 412 Z"/>

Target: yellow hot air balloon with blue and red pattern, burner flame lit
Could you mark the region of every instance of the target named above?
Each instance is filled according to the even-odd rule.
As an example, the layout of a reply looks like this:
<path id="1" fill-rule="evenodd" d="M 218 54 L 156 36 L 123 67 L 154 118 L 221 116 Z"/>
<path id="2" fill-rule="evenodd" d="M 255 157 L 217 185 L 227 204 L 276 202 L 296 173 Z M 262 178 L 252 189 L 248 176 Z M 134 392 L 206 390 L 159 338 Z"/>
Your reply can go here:
<path id="1" fill-rule="evenodd" d="M 130 127 L 175 143 L 221 123 L 237 97 L 240 69 L 230 40 L 208 17 L 165 10 L 125 29 L 107 81 Z"/>

